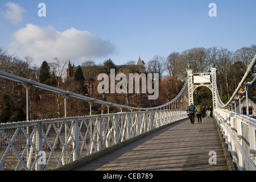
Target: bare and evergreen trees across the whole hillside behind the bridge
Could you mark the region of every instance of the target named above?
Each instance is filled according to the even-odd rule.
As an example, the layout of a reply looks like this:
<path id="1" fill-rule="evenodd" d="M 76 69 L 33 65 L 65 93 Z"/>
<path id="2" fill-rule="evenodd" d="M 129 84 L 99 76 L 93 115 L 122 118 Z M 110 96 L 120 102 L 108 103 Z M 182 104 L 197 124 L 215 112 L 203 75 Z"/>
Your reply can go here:
<path id="1" fill-rule="evenodd" d="M 147 100 L 147 94 L 99 94 L 97 85 L 100 81 L 95 76 L 86 75 L 81 67 L 77 68 L 75 80 L 69 81 L 67 73 L 68 60 L 57 57 L 52 61 L 43 61 L 38 67 L 33 59 L 26 56 L 20 59 L 9 55 L 0 48 L 0 70 L 17 76 L 29 78 L 56 88 L 68 90 L 73 93 L 87 95 L 100 100 L 114 102 L 122 105 L 151 107 L 164 104 L 176 97 L 187 77 L 188 65 L 194 73 L 210 72 L 212 65 L 217 68 L 217 86 L 222 101 L 225 103 L 232 96 L 251 60 L 256 53 L 256 45 L 242 47 L 237 51 L 229 51 L 222 47 L 196 47 L 183 52 L 172 52 L 167 57 L 154 56 L 146 63 L 146 73 L 159 74 L 159 98 Z M 111 68 L 118 68 L 111 59 L 105 60 L 101 65 L 102 73 L 109 73 Z M 138 73 L 135 61 L 127 61 L 123 73 Z M 94 61 L 85 61 L 81 66 L 97 66 Z M 250 75 L 251 81 L 254 75 Z M 16 122 L 26 120 L 26 90 L 23 85 L 6 80 L 0 80 L 0 122 Z M 90 90 L 90 92 L 88 92 Z M 205 106 L 212 105 L 212 93 L 208 88 L 200 87 L 195 91 L 195 103 Z M 256 95 L 255 85 L 249 90 L 250 96 Z M 75 98 L 67 98 L 68 117 L 77 115 L 106 113 L 108 108 Z M 30 120 L 64 117 L 64 97 L 44 90 L 30 88 L 29 90 Z M 116 112 L 118 108 L 110 108 Z"/>

